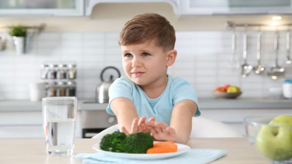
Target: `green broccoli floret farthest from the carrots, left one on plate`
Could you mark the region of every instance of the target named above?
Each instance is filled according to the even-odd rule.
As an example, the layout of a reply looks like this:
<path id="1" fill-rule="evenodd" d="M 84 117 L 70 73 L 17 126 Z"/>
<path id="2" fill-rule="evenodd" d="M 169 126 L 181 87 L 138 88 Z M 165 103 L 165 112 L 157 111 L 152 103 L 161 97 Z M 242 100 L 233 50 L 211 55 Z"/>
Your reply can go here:
<path id="1" fill-rule="evenodd" d="M 123 132 L 115 131 L 111 134 L 105 135 L 99 144 L 100 148 L 105 151 L 124 152 L 123 141 L 127 135 Z"/>

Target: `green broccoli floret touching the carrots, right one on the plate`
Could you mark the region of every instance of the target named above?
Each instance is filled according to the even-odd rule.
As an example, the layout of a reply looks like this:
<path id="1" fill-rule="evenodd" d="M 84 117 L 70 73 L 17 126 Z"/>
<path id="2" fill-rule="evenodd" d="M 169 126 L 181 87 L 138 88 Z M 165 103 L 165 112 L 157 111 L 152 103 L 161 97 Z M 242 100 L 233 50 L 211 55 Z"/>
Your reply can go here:
<path id="1" fill-rule="evenodd" d="M 123 150 L 127 153 L 146 153 L 151 147 L 153 147 L 153 138 L 146 132 L 130 134 L 123 142 Z"/>

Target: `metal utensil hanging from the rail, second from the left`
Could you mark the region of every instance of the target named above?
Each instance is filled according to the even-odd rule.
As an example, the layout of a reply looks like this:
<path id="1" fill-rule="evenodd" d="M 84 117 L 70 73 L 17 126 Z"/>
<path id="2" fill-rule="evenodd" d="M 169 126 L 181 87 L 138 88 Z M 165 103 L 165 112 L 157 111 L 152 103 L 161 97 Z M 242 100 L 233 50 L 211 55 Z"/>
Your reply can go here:
<path id="1" fill-rule="evenodd" d="M 253 67 L 247 64 L 247 24 L 245 24 L 243 33 L 243 64 L 241 65 L 241 76 L 247 77 L 252 70 Z"/>

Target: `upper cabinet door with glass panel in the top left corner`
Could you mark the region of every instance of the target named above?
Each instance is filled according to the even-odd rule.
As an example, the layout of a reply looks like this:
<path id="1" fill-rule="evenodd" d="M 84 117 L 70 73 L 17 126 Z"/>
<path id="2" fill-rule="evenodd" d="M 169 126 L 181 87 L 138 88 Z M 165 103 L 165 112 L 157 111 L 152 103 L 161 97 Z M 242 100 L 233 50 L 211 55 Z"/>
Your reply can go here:
<path id="1" fill-rule="evenodd" d="M 83 0 L 0 0 L 1 16 L 83 16 Z"/>

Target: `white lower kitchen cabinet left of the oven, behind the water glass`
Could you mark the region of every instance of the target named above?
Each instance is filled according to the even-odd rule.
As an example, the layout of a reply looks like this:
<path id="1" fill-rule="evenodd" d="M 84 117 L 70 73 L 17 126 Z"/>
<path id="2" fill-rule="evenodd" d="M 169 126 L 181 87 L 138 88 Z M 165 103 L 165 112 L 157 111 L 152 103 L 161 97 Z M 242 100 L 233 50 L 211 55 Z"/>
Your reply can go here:
<path id="1" fill-rule="evenodd" d="M 80 111 L 77 111 L 75 138 L 81 138 Z M 1 111 L 0 139 L 44 138 L 42 111 Z"/>

